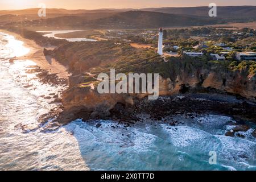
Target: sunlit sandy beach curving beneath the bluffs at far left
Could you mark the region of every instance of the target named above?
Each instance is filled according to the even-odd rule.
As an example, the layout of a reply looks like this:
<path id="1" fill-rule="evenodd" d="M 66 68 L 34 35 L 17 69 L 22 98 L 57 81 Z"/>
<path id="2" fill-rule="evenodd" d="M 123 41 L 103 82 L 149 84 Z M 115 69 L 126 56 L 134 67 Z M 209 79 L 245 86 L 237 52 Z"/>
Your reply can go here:
<path id="1" fill-rule="evenodd" d="M 26 56 L 18 57 L 18 59 L 28 59 L 34 61 L 40 68 L 49 71 L 49 73 L 56 73 L 60 78 L 68 78 L 69 73 L 67 68 L 64 65 L 57 62 L 51 57 L 44 56 L 43 49 L 44 47 L 39 46 L 33 40 L 25 39 L 19 34 L 14 32 L 1 30 L 5 34 L 13 35 L 17 40 L 20 40 L 24 43 L 24 46 L 30 48 L 30 52 Z"/>

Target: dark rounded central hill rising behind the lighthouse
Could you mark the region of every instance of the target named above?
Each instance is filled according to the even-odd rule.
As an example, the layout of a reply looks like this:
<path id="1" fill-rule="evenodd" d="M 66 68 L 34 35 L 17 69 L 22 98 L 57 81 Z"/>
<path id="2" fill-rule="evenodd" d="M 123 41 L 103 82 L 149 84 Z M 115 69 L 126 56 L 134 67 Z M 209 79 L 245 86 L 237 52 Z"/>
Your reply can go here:
<path id="1" fill-rule="evenodd" d="M 214 24 L 216 19 L 151 11 L 126 11 L 88 22 L 93 28 L 158 28 Z"/>

